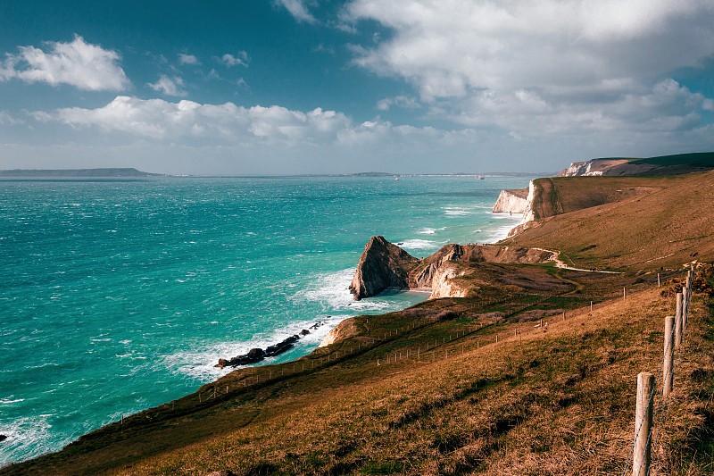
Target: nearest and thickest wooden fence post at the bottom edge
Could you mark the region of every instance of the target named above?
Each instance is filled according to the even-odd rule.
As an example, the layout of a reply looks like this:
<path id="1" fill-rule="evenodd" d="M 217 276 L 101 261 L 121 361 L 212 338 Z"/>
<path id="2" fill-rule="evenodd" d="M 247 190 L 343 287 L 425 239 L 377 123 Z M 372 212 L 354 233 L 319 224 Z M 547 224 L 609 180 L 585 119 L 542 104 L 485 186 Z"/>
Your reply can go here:
<path id="1" fill-rule="evenodd" d="M 654 395 L 654 375 L 640 372 L 637 375 L 637 405 L 635 409 L 635 447 L 632 457 L 633 476 L 650 474 L 652 447 L 652 403 Z"/>

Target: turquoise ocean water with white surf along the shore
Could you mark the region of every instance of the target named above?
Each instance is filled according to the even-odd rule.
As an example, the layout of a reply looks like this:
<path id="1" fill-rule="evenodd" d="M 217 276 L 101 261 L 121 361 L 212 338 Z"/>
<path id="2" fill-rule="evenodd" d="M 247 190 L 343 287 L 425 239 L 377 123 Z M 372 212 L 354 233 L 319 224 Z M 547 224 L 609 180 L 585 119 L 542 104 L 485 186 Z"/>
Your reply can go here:
<path id="1" fill-rule="evenodd" d="M 486 243 L 527 178 L 315 177 L 0 181 L 0 465 L 182 397 L 220 357 L 325 321 L 419 302 L 347 290 L 383 235 L 412 255 Z"/>

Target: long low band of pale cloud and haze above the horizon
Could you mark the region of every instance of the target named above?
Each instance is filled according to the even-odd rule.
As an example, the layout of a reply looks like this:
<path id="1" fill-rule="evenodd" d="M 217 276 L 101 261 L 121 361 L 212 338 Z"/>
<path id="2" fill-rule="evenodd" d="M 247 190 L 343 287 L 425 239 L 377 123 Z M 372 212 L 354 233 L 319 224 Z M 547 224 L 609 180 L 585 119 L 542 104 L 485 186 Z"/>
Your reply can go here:
<path id="1" fill-rule="evenodd" d="M 480 100 L 483 108 L 489 101 L 503 103 L 494 110 L 517 108 L 517 102 L 525 102 L 531 112 L 542 115 L 514 116 L 519 121 L 511 131 L 468 126 L 445 130 L 379 120 L 358 123 L 344 113 L 320 108 L 302 112 L 278 105 L 241 107 L 117 96 L 94 109 L 33 113 L 36 122 L 30 126 L 52 133 L 33 134 L 27 145 L 0 143 L 0 153 L 11 157 L 6 166 L 24 168 L 51 168 L 52 161 L 74 163 L 82 158 L 93 166 L 145 164 L 154 171 L 198 174 L 543 172 L 558 171 L 569 162 L 594 156 L 708 150 L 714 131 L 711 125 L 693 127 L 695 118 L 687 113 L 687 101 L 705 99 L 668 80 L 647 95 L 623 97 L 618 113 L 610 115 L 585 104 L 574 113 L 557 115 L 557 108 L 551 110 L 527 90 Z M 671 111 L 672 104 L 680 113 L 648 117 L 652 112 Z M 466 106 L 464 111 L 472 113 Z M 549 116 L 551 113 L 554 115 Z M 560 131 L 571 130 L 572 121 L 578 128 L 596 133 L 528 134 L 527 121 L 542 118 L 547 119 L 548 127 Z M 477 116 L 463 119 L 481 120 Z M 620 127 L 633 121 L 641 121 L 639 128 Z M 12 157 L 32 157 L 33 162 L 30 165 Z M 196 157 L 202 160 L 196 162 Z"/>

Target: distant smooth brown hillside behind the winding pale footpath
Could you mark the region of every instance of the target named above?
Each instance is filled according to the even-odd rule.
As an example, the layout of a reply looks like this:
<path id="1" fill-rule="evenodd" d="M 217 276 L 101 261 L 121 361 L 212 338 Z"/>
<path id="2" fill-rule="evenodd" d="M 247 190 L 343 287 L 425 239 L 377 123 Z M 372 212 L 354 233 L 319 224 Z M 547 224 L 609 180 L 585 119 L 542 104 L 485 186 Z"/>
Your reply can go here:
<path id="1" fill-rule="evenodd" d="M 559 249 L 581 268 L 653 271 L 714 256 L 714 172 L 671 178 L 552 179 L 565 212 L 503 243 Z M 623 190 L 614 203 L 577 210 L 590 190 Z M 628 193 L 625 193 L 627 189 Z M 594 194 L 596 195 L 596 194 Z M 575 196 L 575 197 L 574 197 Z"/>

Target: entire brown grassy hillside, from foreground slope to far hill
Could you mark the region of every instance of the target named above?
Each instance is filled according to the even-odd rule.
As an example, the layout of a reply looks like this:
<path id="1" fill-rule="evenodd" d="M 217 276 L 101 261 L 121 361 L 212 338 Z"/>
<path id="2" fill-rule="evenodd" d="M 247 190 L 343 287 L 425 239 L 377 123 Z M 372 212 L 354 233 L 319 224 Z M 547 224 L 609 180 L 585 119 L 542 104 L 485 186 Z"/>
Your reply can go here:
<path id="1" fill-rule="evenodd" d="M 510 243 L 621 274 L 473 263 L 462 278 L 472 298 L 354 318 L 352 338 L 232 372 L 0 474 L 621 474 L 635 377 L 660 367 L 682 263 L 714 261 L 714 173 L 590 179 L 549 181 L 563 213 Z M 578 209 L 588 189 L 626 188 L 621 200 Z M 658 407 L 667 418 L 652 474 L 710 474 L 708 294 L 694 297 L 678 359 L 674 396 Z"/>

